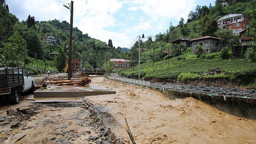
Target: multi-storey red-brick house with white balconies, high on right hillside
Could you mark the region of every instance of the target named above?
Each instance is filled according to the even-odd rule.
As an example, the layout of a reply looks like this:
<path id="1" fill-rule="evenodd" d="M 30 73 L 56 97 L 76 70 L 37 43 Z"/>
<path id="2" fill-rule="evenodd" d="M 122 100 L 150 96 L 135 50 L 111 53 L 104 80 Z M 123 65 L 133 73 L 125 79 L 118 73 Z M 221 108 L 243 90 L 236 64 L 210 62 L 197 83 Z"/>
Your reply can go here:
<path id="1" fill-rule="evenodd" d="M 243 14 L 227 14 L 218 19 L 218 27 L 221 29 L 232 30 L 232 34 L 238 35 L 241 31 L 248 28 L 250 19 Z"/>

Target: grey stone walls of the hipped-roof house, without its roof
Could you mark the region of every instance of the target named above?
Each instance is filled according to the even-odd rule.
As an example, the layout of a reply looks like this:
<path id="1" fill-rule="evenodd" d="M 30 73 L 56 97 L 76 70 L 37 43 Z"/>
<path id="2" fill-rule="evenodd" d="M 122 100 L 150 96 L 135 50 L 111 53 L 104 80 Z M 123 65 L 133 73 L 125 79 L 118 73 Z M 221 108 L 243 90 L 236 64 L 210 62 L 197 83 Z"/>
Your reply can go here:
<path id="1" fill-rule="evenodd" d="M 219 40 L 202 39 L 202 40 L 192 42 L 192 54 L 194 54 L 196 45 L 201 45 L 203 47 L 204 54 L 209 54 L 209 53 L 216 52 L 216 51 L 220 50 Z"/>

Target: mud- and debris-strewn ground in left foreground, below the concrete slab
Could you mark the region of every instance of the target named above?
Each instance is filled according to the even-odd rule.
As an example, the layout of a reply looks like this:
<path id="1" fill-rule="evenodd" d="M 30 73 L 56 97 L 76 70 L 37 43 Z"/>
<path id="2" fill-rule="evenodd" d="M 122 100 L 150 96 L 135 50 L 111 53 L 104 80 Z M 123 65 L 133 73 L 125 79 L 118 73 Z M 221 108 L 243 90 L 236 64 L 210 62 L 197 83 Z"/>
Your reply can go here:
<path id="1" fill-rule="evenodd" d="M 87 102 L 0 108 L 0 143 L 119 143 Z"/>

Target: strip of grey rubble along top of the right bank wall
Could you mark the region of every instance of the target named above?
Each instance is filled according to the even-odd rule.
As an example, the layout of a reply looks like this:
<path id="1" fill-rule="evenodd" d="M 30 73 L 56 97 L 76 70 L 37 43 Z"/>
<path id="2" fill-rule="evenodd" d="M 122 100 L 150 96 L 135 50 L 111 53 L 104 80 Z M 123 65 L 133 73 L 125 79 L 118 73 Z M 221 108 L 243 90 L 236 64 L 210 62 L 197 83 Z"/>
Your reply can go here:
<path id="1" fill-rule="evenodd" d="M 171 90 L 205 93 L 213 95 L 226 95 L 233 97 L 256 97 L 255 89 L 242 90 L 237 87 L 192 86 L 175 83 L 152 83 L 150 86 Z"/>

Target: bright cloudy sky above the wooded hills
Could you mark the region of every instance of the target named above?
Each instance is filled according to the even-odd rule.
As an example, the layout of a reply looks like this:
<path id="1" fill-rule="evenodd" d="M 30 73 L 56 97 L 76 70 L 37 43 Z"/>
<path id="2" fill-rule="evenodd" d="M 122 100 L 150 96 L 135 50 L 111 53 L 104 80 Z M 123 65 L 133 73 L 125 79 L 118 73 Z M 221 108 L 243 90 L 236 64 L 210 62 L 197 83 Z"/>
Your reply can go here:
<path id="1" fill-rule="evenodd" d="M 61 2 L 59 2 L 61 1 Z M 71 0 L 6 0 L 10 12 L 20 21 L 28 15 L 35 20 L 70 21 L 70 11 L 63 6 Z M 215 0 L 73 0 L 73 27 L 90 37 L 113 46 L 127 47 L 140 35 L 164 33 L 170 22 L 187 20 L 197 5 L 214 5 Z M 65 2 L 65 3 L 62 3 Z M 68 5 L 68 4 L 66 4 Z M 143 39 L 146 41 L 146 39 Z"/>

